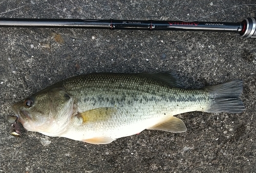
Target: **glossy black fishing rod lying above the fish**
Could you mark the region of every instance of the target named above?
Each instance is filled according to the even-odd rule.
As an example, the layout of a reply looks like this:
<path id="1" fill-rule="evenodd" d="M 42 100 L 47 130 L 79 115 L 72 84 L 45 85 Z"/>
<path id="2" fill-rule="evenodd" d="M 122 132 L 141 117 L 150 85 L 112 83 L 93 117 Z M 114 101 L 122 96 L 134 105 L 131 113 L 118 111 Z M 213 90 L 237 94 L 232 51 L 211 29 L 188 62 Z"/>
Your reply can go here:
<path id="1" fill-rule="evenodd" d="M 239 22 L 169 21 L 169 20 L 115 20 L 115 19 L 36 19 L 0 18 L 0 27 L 16 28 L 83 28 L 110 30 L 163 30 L 232 32 L 242 38 L 256 38 L 256 18 Z"/>

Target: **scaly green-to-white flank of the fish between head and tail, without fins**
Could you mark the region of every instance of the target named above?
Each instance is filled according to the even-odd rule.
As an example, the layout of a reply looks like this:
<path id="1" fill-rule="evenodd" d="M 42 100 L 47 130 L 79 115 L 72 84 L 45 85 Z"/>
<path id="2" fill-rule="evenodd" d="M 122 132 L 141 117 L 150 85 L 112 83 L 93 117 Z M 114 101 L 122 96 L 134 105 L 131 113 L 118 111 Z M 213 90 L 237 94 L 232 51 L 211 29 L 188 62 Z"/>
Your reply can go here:
<path id="1" fill-rule="evenodd" d="M 94 130 L 94 133 L 103 136 L 106 135 L 102 133 L 103 130 L 113 131 L 113 126 L 111 125 L 115 125 L 115 129 L 120 130 L 124 126 L 138 126 L 138 122 L 143 124 L 137 129 L 134 128 L 134 131 L 130 130 L 130 133 L 125 134 L 125 136 L 130 136 L 139 133 L 141 128 L 150 128 L 154 125 L 154 121 L 159 121 L 159 119 L 166 119 L 184 111 L 195 111 L 199 109 L 198 107 L 206 109 L 208 106 L 206 99 L 204 99 L 205 102 L 194 102 L 198 100 L 197 97 L 203 97 L 203 94 L 206 97 L 205 91 L 203 90 L 173 88 L 151 78 L 137 77 L 136 75 L 113 74 L 111 77 L 108 74 L 104 75 L 96 74 L 88 78 L 79 76 L 74 78 L 74 81 L 69 80 L 68 83 L 63 82 L 63 86 L 68 86 L 69 83 L 77 83 L 80 87 L 75 87 L 76 90 L 87 88 L 87 96 L 85 97 L 83 94 L 78 96 L 76 90 L 67 90 L 68 93 L 76 95 L 78 98 L 78 112 L 84 112 L 98 107 L 117 107 L 118 111 L 112 115 L 112 118 L 97 122 L 95 126 L 92 126 L 92 124 L 89 127 L 83 126 L 84 129 L 81 131 L 98 129 L 99 131 L 96 132 Z M 94 87 L 94 89 L 90 90 L 91 87 Z M 181 94 L 181 92 L 184 94 Z M 133 96 L 130 97 L 130 95 Z M 86 103 L 82 102 L 84 100 L 86 100 Z M 151 123 L 148 121 L 151 121 Z M 114 139 L 120 137 L 119 134 L 114 135 L 111 133 L 108 135 Z"/>

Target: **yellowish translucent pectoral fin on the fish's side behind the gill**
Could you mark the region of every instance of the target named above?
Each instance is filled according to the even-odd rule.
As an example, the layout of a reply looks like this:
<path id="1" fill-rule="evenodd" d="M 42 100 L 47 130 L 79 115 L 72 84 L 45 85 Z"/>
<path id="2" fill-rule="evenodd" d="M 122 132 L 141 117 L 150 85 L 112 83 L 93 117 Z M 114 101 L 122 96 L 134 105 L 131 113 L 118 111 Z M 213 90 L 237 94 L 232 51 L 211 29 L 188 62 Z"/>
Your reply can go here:
<path id="1" fill-rule="evenodd" d="M 116 112 L 116 108 L 97 108 L 79 113 L 77 116 L 82 118 L 82 123 L 106 120 Z"/>

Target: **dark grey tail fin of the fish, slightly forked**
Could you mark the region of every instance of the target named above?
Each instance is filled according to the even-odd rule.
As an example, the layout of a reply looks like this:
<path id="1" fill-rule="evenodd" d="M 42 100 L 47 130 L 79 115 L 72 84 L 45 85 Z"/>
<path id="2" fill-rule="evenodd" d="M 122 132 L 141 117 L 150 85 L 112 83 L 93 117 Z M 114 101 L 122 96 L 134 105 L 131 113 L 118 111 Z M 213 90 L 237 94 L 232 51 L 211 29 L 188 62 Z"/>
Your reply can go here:
<path id="1" fill-rule="evenodd" d="M 220 85 L 208 86 L 210 108 L 205 112 L 230 112 L 239 113 L 244 111 L 244 105 L 239 98 L 243 91 L 243 81 L 236 80 Z"/>

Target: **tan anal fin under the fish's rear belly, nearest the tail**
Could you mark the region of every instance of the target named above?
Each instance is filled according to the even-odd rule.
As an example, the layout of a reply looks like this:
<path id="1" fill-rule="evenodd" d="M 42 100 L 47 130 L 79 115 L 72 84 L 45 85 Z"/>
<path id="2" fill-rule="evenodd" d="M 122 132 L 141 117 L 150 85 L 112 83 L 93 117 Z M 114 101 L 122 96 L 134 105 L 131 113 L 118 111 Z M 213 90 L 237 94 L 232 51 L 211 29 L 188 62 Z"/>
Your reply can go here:
<path id="1" fill-rule="evenodd" d="M 162 130 L 162 131 L 174 132 L 174 133 L 181 133 L 181 132 L 187 131 L 187 128 L 186 128 L 184 122 L 175 116 L 172 116 L 172 118 L 168 119 L 167 121 L 158 123 L 157 125 L 149 128 L 149 129 L 150 130 Z"/>

